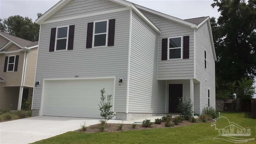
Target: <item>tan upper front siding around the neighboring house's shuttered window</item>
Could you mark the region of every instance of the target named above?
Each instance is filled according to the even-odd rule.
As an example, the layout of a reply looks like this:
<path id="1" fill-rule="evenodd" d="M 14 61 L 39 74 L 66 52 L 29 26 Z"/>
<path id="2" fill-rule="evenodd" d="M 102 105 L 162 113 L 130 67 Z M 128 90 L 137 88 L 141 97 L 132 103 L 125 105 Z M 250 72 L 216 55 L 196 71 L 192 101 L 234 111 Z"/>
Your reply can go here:
<path id="1" fill-rule="evenodd" d="M 4 72 L 4 61 L 6 56 L 19 55 L 17 72 Z M 21 86 L 24 52 L 0 54 L 0 76 L 6 80 L 4 86 Z"/>

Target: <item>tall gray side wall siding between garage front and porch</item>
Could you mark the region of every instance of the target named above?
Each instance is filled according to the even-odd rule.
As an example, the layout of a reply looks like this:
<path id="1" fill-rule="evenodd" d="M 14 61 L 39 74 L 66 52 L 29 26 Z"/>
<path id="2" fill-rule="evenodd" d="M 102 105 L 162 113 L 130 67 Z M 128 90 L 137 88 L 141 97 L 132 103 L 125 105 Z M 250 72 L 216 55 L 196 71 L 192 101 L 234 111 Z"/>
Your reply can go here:
<path id="1" fill-rule="evenodd" d="M 158 34 L 132 13 L 128 113 L 164 113 L 165 80 L 157 80 Z"/>

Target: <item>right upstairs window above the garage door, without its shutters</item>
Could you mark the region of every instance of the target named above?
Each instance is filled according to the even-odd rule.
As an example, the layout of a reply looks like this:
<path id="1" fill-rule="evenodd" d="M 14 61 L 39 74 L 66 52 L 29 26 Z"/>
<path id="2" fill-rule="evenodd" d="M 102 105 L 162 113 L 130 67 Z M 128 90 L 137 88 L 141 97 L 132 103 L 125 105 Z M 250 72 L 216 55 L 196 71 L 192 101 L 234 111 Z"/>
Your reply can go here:
<path id="1" fill-rule="evenodd" d="M 108 20 L 94 22 L 93 46 L 107 46 Z"/>

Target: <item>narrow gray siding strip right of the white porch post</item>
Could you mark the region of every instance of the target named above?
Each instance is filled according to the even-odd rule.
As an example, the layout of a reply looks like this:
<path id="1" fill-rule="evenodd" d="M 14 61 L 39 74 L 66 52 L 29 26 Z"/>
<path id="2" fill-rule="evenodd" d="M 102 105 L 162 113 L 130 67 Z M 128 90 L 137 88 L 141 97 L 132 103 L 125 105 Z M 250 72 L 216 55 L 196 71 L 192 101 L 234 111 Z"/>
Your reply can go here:
<path id="1" fill-rule="evenodd" d="M 194 83 L 194 113 L 200 114 L 200 83 Z"/>

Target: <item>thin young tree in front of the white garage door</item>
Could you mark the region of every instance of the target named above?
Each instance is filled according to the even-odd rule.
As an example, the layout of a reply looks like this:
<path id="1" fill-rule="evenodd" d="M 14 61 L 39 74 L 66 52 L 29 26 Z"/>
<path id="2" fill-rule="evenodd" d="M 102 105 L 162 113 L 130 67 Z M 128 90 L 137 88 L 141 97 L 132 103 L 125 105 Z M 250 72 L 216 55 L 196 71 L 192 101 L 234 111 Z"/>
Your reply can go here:
<path id="1" fill-rule="evenodd" d="M 108 120 L 113 118 L 116 114 L 114 114 L 113 111 L 111 111 L 112 105 L 110 104 L 110 100 L 112 99 L 112 94 L 108 95 L 107 97 L 104 96 L 105 94 L 105 88 L 103 90 L 100 90 L 100 116 L 102 116 L 105 119 L 105 125 L 107 125 Z M 106 100 L 106 101 L 105 101 Z"/>

